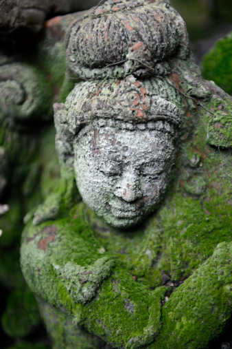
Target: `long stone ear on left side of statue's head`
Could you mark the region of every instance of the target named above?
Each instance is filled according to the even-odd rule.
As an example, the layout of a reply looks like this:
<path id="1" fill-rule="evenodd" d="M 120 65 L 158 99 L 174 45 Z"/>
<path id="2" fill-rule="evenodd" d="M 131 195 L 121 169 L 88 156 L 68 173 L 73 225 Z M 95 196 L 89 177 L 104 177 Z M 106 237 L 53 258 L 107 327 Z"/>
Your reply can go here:
<path id="1" fill-rule="evenodd" d="M 73 134 L 69 131 L 67 107 L 63 103 L 54 104 L 56 127 L 56 151 L 62 165 L 73 166 Z"/>

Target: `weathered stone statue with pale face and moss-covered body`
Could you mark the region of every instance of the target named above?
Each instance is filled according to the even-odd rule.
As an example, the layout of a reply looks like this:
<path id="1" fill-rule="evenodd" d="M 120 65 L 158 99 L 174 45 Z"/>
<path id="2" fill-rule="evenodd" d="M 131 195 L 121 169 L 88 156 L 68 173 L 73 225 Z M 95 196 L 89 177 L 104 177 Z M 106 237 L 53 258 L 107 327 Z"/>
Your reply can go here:
<path id="1" fill-rule="evenodd" d="M 169 1 L 108 0 L 66 44 L 84 81 L 21 245 L 53 348 L 207 348 L 231 319 L 231 97 Z"/>

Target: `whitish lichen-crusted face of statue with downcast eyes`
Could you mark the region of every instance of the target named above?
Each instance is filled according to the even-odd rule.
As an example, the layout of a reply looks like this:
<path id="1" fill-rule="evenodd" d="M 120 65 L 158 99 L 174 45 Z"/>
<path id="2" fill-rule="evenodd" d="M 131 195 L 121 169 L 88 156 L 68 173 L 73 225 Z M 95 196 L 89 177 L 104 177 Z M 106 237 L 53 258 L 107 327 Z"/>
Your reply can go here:
<path id="1" fill-rule="evenodd" d="M 172 167 L 173 137 L 143 126 L 98 127 L 80 133 L 74 143 L 82 199 L 118 228 L 135 225 L 156 209 Z"/>

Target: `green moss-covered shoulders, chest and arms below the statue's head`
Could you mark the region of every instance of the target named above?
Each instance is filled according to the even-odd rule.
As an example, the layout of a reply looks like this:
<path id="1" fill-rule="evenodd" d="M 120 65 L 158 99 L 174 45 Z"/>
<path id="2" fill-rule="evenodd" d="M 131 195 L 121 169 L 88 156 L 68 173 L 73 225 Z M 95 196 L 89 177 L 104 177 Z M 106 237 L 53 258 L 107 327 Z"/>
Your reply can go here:
<path id="1" fill-rule="evenodd" d="M 23 273 L 36 295 L 58 307 L 59 310 L 53 308 L 56 324 L 66 321 L 64 336 L 70 348 L 76 348 L 78 332 L 73 333 L 73 325 L 66 315 L 78 328 L 88 330 L 116 348 L 140 348 L 151 342 L 151 348 L 205 348 L 209 339 L 227 324 L 231 312 L 227 292 L 231 262 L 227 244 L 220 243 L 231 242 L 231 160 L 229 151 L 209 147 L 206 127 L 209 118 L 211 114 L 200 109 L 200 122 L 196 120 L 196 129 L 178 158 L 181 165 L 177 165 L 170 193 L 156 215 L 141 226 L 129 231 L 113 229 L 80 202 L 69 209 L 67 204 L 61 205 L 54 222 L 38 226 L 29 223 L 25 229 L 21 248 Z M 189 191 L 189 178 L 199 178 L 205 190 L 196 192 L 194 187 L 194 191 Z M 64 182 L 64 189 L 65 185 Z M 62 191 L 61 186 L 57 191 L 61 193 L 60 198 Z M 67 203 L 73 200 L 72 195 L 66 197 Z M 217 244 L 220 244 L 218 250 L 213 252 Z M 91 266 L 102 257 L 114 261 L 113 271 L 110 276 L 104 276 L 91 302 L 83 305 L 81 299 L 76 299 L 77 285 L 71 284 L 65 268 L 68 264 L 71 270 L 77 271 L 78 282 L 78 271 L 82 271 L 85 285 L 88 283 L 86 271 L 92 271 Z M 221 268 L 224 274 L 220 274 Z M 170 296 L 166 287 L 152 292 L 152 288 L 161 286 L 162 270 L 170 275 L 172 284 L 175 280 L 183 283 L 192 271 L 195 273 Z M 215 286 L 212 288 L 211 284 Z M 199 289 L 201 295 L 197 299 Z M 184 297 L 190 291 L 192 303 Z M 179 296 L 182 294 L 183 298 Z M 168 301 L 162 308 L 164 297 Z M 186 308 L 185 318 L 181 310 L 179 313 L 174 310 L 175 306 Z M 40 302 L 42 313 L 47 307 L 51 306 Z M 172 310 L 173 321 L 166 309 Z M 197 314 L 202 316 L 201 321 Z M 46 313 L 43 317 L 54 346 L 58 346 L 56 326 L 51 328 L 52 321 Z M 220 321 L 218 326 L 218 319 L 225 321 Z M 88 341 L 90 344 L 83 346 L 96 347 L 91 337 Z"/>

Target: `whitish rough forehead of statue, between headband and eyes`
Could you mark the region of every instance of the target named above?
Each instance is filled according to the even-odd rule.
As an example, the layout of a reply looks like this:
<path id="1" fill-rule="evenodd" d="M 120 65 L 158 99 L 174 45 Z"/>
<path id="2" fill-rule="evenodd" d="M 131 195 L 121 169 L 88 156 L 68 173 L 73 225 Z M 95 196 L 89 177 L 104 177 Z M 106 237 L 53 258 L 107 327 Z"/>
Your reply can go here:
<path id="1" fill-rule="evenodd" d="M 84 132 L 84 129 L 83 129 Z M 115 129 L 106 127 L 82 131 L 76 140 L 76 156 L 87 162 L 108 165 L 135 165 L 150 161 L 162 162 L 173 150 L 173 137 L 156 129 Z"/>

